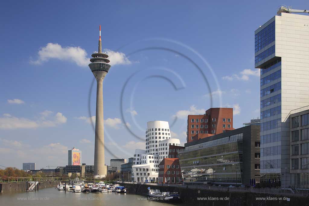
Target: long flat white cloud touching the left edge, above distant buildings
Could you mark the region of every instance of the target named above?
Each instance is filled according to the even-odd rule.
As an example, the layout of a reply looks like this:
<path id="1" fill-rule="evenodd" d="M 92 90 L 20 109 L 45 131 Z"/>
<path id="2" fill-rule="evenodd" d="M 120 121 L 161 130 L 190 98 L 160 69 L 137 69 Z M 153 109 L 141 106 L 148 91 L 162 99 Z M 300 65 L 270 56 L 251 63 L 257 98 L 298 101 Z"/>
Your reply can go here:
<path id="1" fill-rule="evenodd" d="M 44 112 L 42 112 L 44 114 Z M 38 127 L 54 127 L 59 124 L 64 124 L 67 118 L 60 112 L 57 112 L 55 116 L 51 116 L 46 119 L 41 113 L 41 117 L 37 120 L 30 120 L 27 118 L 19 118 L 11 116 L 10 114 L 4 114 L 0 117 L 0 129 L 19 129 L 19 128 L 38 128 Z"/>

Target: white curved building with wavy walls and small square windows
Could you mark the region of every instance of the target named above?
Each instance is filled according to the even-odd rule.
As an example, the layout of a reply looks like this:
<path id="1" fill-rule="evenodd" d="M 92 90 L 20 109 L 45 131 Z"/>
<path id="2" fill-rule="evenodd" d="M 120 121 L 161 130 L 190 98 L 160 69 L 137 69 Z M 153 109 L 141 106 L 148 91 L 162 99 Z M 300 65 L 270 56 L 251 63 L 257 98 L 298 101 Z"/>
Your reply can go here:
<path id="1" fill-rule="evenodd" d="M 180 146 L 180 141 L 179 139 L 171 138 L 168 122 L 147 122 L 146 150 L 135 150 L 132 166 L 132 181 L 157 181 L 159 163 L 164 158 L 168 158 L 169 145 Z"/>

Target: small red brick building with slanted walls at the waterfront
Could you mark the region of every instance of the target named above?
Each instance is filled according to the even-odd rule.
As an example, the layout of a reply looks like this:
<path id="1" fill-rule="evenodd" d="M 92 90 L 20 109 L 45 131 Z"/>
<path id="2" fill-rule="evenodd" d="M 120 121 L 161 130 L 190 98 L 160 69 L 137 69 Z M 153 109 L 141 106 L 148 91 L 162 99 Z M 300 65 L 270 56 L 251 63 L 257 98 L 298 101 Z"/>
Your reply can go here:
<path id="1" fill-rule="evenodd" d="M 160 162 L 158 183 L 183 183 L 178 158 L 164 158 Z"/>

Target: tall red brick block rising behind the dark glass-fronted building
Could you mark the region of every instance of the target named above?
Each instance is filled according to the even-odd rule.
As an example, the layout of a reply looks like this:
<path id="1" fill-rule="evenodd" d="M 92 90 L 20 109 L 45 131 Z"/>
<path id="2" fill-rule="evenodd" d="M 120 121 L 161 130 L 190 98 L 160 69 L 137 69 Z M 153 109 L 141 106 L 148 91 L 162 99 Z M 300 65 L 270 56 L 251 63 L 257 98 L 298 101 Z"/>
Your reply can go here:
<path id="1" fill-rule="evenodd" d="M 233 108 L 210 108 L 202 115 L 188 115 L 187 143 L 233 129 Z"/>

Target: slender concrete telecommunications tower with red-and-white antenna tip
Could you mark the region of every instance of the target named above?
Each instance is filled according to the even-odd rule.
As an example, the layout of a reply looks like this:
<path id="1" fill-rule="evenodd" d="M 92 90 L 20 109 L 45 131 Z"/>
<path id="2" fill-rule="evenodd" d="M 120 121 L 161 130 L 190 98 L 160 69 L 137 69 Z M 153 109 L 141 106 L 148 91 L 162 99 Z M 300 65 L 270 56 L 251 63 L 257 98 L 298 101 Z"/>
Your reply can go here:
<path id="1" fill-rule="evenodd" d="M 97 81 L 96 111 L 95 111 L 95 161 L 94 178 L 103 178 L 107 174 L 104 161 L 104 122 L 103 122 L 103 80 L 111 65 L 108 55 L 102 53 L 101 25 L 99 36 L 99 51 L 91 55 L 91 63 L 88 65 Z"/>

